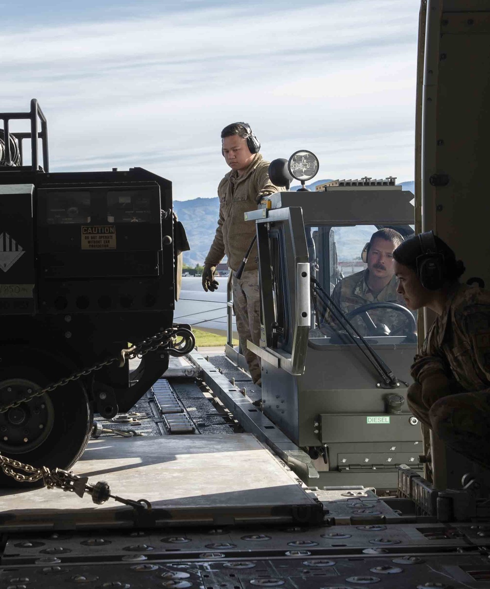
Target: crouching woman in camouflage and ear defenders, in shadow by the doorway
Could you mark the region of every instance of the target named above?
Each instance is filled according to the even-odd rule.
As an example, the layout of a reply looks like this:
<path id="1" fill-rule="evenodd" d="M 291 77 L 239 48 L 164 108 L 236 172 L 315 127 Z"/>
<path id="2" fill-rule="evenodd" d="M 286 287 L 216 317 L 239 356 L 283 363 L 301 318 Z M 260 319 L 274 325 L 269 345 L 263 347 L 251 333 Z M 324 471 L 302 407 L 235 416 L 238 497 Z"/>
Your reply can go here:
<path id="1" fill-rule="evenodd" d="M 411 237 L 395 252 L 398 293 L 409 309 L 436 313 L 411 368 L 412 413 L 456 452 L 490 468 L 490 292 L 458 282 L 461 260 L 434 238 L 441 257 L 441 287 L 422 286 L 422 242 Z"/>

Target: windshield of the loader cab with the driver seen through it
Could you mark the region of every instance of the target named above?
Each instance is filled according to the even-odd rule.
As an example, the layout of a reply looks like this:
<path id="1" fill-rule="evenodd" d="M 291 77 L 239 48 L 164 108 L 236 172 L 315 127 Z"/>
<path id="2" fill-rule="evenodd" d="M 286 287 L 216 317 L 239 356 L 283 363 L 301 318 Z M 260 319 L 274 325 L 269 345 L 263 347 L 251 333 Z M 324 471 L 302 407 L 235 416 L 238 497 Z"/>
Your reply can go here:
<path id="1" fill-rule="evenodd" d="M 371 345 L 416 341 L 416 320 L 396 293 L 392 252 L 398 242 L 375 238 L 379 226 L 305 227 L 311 276 Z M 406 234 L 407 227 L 391 227 Z M 310 339 L 320 345 L 351 343 L 344 317 L 315 297 Z"/>

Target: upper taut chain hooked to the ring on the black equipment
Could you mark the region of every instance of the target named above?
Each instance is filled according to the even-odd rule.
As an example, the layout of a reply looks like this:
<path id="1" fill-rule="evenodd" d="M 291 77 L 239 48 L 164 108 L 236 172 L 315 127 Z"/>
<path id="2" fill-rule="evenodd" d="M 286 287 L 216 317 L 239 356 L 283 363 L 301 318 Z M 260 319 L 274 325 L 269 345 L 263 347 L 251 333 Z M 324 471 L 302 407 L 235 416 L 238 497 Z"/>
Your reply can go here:
<path id="1" fill-rule="evenodd" d="M 82 378 L 82 376 L 88 376 L 92 372 L 96 372 L 96 370 L 101 370 L 104 366 L 109 366 L 114 362 L 119 362 L 119 367 L 122 368 L 126 360 L 132 360 L 134 358 L 142 358 L 148 352 L 155 352 L 161 346 L 165 346 L 170 343 L 172 340 L 175 340 L 177 336 L 177 332 L 179 331 L 178 327 L 169 327 L 162 332 L 157 332 L 155 335 L 151 337 L 147 337 L 146 339 L 142 340 L 141 342 L 135 344 L 131 348 L 122 349 L 119 356 L 114 356 L 113 358 L 108 358 L 102 362 L 96 362 L 90 368 L 84 368 L 82 370 L 78 370 L 74 372 L 70 376 L 65 376 L 56 382 L 49 383 L 49 385 L 44 386 L 42 389 L 38 391 L 32 391 L 29 395 L 26 395 L 22 399 L 18 399 L 16 401 L 12 401 L 8 405 L 1 405 L 0 406 L 0 413 L 5 413 L 9 409 L 14 409 L 18 407 L 22 403 L 27 403 L 32 401 L 35 397 L 39 397 L 44 395 L 44 393 L 49 393 L 55 391 L 56 389 L 60 388 L 61 386 L 68 385 L 69 382 L 74 382 Z"/>

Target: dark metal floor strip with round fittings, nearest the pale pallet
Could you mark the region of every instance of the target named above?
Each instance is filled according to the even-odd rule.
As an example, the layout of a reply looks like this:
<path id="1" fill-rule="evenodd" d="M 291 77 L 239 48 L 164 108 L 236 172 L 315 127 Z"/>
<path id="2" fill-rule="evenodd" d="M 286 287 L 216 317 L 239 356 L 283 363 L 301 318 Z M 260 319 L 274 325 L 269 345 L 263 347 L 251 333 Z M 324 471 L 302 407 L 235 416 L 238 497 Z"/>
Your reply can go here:
<path id="1" fill-rule="evenodd" d="M 284 525 L 282 529 L 274 529 L 270 526 L 223 527 L 219 530 L 214 528 L 212 532 L 202 528 L 186 530 L 165 528 L 165 530 L 137 532 L 138 535 L 133 537 L 128 530 L 122 532 L 98 530 L 95 537 L 101 537 L 106 541 L 95 545 L 86 544 L 89 538 L 94 537 L 93 533 L 90 535 L 86 531 L 80 531 L 76 535 L 63 531 L 54 535 L 46 534 L 46 532 L 44 534 L 29 532 L 22 535 L 16 534 L 15 540 L 7 542 L 3 562 L 15 564 L 19 558 L 35 560 L 46 555 L 58 555 L 58 558 L 66 557 L 73 560 L 95 554 L 98 557 L 114 555 L 118 552 L 125 554 L 128 551 L 140 554 L 143 552 L 147 555 L 151 552 L 152 557 L 161 559 L 172 558 L 171 554 L 167 554 L 171 552 L 181 552 L 179 558 L 197 558 L 206 550 L 224 552 L 227 558 L 259 558 L 264 554 L 269 557 L 281 557 L 286 551 L 291 550 L 306 550 L 308 555 L 314 557 L 332 554 L 427 554 L 457 551 L 458 548 L 476 550 L 476 547 L 480 545 L 476 539 L 471 542 L 452 524 L 365 524 L 315 527 Z M 129 550 L 130 546 L 133 546 L 135 550 Z M 60 547 L 62 550 L 59 550 Z M 363 552 L 365 550 L 368 552 Z"/>

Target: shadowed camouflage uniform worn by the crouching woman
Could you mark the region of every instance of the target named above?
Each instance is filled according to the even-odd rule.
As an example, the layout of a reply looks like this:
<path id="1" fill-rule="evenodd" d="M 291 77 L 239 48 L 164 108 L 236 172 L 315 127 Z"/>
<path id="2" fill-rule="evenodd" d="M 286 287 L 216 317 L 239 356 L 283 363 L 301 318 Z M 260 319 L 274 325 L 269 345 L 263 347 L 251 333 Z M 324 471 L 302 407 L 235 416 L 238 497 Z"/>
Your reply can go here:
<path id="1" fill-rule="evenodd" d="M 489 468 L 490 292 L 459 283 L 452 287 L 411 373 L 418 385 L 426 379 L 442 383 L 433 394 L 429 386 L 425 396 L 422 386 L 412 385 L 412 413 L 456 452 Z"/>

